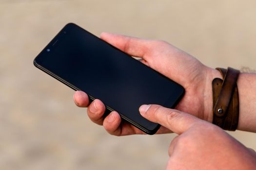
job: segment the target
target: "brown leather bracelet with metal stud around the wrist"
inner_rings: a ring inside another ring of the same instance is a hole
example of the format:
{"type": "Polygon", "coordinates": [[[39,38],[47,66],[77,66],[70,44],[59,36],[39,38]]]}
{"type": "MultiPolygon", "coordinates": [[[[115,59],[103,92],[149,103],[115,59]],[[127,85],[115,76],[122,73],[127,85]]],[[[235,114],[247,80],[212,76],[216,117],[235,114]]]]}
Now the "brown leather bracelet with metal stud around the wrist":
{"type": "Polygon", "coordinates": [[[240,71],[216,68],[223,80],[215,78],[213,85],[213,123],[224,130],[235,131],[239,119],[239,99],[236,85],[240,71]]]}

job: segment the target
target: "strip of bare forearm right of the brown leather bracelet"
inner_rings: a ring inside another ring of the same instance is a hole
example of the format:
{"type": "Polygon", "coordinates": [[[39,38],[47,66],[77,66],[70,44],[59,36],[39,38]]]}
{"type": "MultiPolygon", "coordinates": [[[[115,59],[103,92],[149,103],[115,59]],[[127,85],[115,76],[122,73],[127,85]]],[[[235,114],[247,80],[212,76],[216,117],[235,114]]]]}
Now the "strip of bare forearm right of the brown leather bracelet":
{"type": "Polygon", "coordinates": [[[240,73],[237,80],[239,94],[238,130],[256,132],[256,74],[240,73]]]}

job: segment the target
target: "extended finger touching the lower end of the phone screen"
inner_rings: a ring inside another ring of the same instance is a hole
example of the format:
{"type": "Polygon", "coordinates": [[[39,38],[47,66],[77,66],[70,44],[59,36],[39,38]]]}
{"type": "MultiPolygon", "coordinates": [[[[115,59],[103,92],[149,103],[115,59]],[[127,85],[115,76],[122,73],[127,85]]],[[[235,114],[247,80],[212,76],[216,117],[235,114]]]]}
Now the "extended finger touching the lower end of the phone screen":
{"type": "Polygon", "coordinates": [[[159,123],[179,135],[195,124],[204,123],[190,114],[156,104],[141,105],[139,112],[144,118],[159,123]]]}

